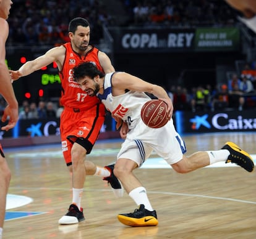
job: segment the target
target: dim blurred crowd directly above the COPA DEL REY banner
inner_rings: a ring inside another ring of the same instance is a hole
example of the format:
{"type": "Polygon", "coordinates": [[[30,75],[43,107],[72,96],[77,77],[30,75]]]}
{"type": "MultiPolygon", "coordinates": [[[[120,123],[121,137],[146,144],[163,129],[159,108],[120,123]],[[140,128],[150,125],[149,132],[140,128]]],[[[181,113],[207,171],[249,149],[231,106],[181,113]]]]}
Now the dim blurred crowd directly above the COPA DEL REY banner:
{"type": "Polygon", "coordinates": [[[135,26],[227,26],[237,13],[222,0],[124,0],[128,25],[135,26]]]}

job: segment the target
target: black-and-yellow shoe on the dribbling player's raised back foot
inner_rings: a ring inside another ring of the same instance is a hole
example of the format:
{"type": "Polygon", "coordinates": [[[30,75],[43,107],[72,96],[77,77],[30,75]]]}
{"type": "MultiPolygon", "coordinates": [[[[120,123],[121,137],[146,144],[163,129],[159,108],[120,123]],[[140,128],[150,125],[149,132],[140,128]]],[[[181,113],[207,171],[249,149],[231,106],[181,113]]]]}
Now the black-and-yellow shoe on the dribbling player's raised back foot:
{"type": "MultiPolygon", "coordinates": [[[[239,160],[240,162],[242,161],[242,168],[244,168],[246,171],[248,172],[252,172],[254,171],[254,161],[252,160],[252,156],[249,155],[249,153],[245,152],[244,150],[242,150],[240,147],[238,147],[236,144],[234,144],[233,142],[226,142],[226,144],[223,146],[224,149],[229,150],[231,148],[231,150],[234,150],[236,153],[238,153],[239,155],[241,155],[239,158],[237,158],[237,156],[233,156],[234,160],[227,160],[226,163],[237,163],[237,160],[239,160]],[[243,158],[247,157],[247,160],[244,161],[243,158]],[[237,159],[237,160],[236,160],[237,159]]],[[[232,152],[231,152],[232,155],[232,152]]]]}

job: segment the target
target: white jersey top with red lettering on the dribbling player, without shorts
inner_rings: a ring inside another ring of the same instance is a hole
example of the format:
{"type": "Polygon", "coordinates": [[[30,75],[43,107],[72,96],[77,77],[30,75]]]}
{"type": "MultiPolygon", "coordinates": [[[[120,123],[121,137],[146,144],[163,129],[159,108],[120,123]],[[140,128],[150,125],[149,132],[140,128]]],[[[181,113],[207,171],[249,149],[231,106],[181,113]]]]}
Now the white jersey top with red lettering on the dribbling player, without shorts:
{"type": "Polygon", "coordinates": [[[143,104],[151,100],[151,98],[144,92],[137,91],[128,91],[125,94],[113,96],[111,86],[113,74],[106,74],[103,86],[104,92],[103,94],[97,94],[97,97],[112,115],[125,121],[129,129],[134,129],[138,120],[140,120],[140,111],[143,104]]]}

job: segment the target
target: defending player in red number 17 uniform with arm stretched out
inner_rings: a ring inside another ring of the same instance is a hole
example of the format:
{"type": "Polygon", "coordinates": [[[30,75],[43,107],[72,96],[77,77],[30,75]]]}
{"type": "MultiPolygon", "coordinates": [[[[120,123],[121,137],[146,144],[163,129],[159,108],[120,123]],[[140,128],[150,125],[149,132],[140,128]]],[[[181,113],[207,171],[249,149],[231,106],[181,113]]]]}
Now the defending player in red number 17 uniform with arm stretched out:
{"type": "Polygon", "coordinates": [[[45,55],[22,65],[17,71],[10,71],[12,79],[27,76],[40,68],[56,62],[61,78],[61,144],[64,159],[72,172],[73,198],[69,211],[59,224],[76,224],[83,221],[83,209],[80,207],[83,185],[86,175],[101,176],[108,180],[116,196],[122,196],[122,186],[113,174],[113,165],[100,168],[85,161],[100,134],[105,120],[105,107],[100,100],[89,97],[73,79],[72,68],[81,62],[94,62],[105,73],[114,71],[111,60],[104,52],[89,45],[90,25],[84,18],[74,18],[69,23],[70,43],[49,49],[45,55]]]}

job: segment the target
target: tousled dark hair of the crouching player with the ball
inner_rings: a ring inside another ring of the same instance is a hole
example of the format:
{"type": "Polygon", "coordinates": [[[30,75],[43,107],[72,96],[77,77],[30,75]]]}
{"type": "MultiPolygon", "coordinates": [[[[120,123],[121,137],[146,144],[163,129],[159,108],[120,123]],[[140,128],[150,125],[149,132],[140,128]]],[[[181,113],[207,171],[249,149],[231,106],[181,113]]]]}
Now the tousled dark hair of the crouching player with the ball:
{"type": "Polygon", "coordinates": [[[95,78],[95,76],[100,76],[100,78],[105,76],[100,70],[98,70],[94,62],[82,62],[74,67],[73,70],[75,81],[82,79],[85,76],[88,76],[91,79],[95,78]]]}

